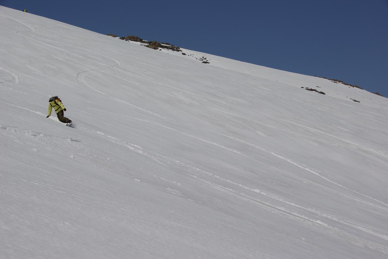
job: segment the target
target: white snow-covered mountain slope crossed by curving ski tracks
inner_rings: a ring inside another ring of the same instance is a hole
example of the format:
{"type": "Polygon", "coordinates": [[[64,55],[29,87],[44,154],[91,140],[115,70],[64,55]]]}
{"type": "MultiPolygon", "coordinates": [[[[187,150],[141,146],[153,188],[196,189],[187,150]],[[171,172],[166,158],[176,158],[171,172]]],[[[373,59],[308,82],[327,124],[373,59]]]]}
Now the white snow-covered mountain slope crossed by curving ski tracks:
{"type": "Polygon", "coordinates": [[[0,258],[388,257],[388,99],[5,7],[0,24],[0,258]]]}

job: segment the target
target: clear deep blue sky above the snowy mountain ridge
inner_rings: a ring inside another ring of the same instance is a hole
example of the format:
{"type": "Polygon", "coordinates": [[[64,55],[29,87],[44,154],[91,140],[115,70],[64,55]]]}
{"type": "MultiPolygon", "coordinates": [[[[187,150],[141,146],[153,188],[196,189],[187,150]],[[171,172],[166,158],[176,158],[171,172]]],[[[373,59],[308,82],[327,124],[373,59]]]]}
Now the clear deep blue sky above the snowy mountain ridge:
{"type": "Polygon", "coordinates": [[[102,34],[136,35],[388,97],[388,0],[0,0],[102,34]]]}

